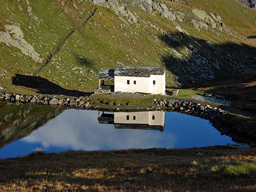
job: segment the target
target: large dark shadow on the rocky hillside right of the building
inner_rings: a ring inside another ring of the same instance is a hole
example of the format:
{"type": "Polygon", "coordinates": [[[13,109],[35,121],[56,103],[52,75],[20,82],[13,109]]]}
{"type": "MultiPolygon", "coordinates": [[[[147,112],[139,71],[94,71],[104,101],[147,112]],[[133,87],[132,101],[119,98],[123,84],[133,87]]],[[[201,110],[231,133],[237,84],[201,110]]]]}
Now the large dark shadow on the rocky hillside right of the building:
{"type": "Polygon", "coordinates": [[[200,87],[198,82],[227,79],[256,69],[256,48],[250,45],[210,44],[180,32],[172,36],[176,41],[169,35],[159,37],[169,47],[168,51],[174,53],[162,55],[162,60],[183,87],[200,87]],[[185,54],[175,53],[174,49],[185,54]]]}

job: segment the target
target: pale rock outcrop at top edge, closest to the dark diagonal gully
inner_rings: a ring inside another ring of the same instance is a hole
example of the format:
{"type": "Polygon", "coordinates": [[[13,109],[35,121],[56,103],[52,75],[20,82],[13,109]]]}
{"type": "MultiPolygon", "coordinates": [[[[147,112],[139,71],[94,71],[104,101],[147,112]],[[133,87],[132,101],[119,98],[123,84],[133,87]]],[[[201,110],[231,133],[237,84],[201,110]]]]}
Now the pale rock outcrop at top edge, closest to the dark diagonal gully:
{"type": "MultiPolygon", "coordinates": [[[[82,0],[84,2],[92,2],[93,4],[96,4],[98,6],[107,7],[109,9],[112,9],[114,12],[116,12],[117,15],[119,15],[120,19],[127,20],[129,23],[137,23],[137,17],[127,9],[127,6],[122,3],[121,1],[117,0],[82,0]]],[[[125,23],[127,23],[125,20],[123,20],[125,23]]]]}

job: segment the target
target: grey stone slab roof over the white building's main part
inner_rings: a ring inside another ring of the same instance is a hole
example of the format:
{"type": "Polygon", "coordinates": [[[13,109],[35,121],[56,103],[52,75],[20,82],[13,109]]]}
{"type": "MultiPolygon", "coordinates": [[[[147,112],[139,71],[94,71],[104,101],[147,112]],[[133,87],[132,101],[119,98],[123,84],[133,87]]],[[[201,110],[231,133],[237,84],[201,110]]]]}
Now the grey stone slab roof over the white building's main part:
{"type": "Polygon", "coordinates": [[[137,67],[116,66],[114,76],[150,77],[150,75],[164,75],[165,67],[137,67]]]}

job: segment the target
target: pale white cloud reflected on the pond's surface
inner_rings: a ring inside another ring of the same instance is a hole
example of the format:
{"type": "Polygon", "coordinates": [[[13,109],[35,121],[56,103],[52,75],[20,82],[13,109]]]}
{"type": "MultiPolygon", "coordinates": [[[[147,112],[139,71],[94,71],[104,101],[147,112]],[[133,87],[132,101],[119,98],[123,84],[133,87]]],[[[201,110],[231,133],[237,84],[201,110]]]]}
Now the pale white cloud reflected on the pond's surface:
{"type": "Polygon", "coordinates": [[[152,130],[115,129],[99,124],[98,111],[70,109],[50,120],[22,140],[73,150],[110,150],[128,148],[174,148],[175,136],[152,130]]]}

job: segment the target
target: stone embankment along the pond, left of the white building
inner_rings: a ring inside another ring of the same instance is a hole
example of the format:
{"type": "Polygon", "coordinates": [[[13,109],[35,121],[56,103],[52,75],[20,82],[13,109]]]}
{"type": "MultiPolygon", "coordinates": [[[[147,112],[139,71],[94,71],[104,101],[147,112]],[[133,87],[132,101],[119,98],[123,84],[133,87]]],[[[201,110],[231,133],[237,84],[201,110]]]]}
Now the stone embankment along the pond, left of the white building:
{"type": "Polygon", "coordinates": [[[21,102],[21,103],[34,103],[34,104],[43,104],[43,105],[61,105],[67,107],[79,107],[79,108],[89,108],[91,107],[89,102],[81,101],[77,99],[61,99],[55,98],[53,96],[31,96],[31,95],[22,95],[22,94],[8,94],[1,93],[0,100],[12,101],[12,102],[21,102]]]}

